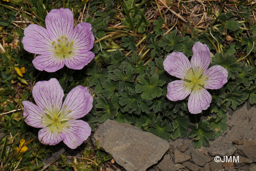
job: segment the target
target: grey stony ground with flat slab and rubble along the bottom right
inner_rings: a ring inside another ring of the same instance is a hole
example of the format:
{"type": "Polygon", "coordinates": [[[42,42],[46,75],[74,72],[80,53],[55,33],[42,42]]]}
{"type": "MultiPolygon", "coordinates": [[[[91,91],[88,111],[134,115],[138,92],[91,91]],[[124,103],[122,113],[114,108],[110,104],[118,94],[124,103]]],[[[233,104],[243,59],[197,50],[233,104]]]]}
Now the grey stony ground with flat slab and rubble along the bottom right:
{"type": "MultiPolygon", "coordinates": [[[[211,141],[210,147],[200,149],[193,147],[191,138],[167,142],[132,125],[111,120],[100,125],[87,141],[98,141],[99,147],[113,156],[115,164],[106,171],[256,171],[256,106],[247,102],[230,111],[227,123],[229,129],[222,136],[211,141]],[[216,156],[220,162],[214,160],[216,156]]],[[[44,161],[45,166],[65,152],[80,157],[79,151],[66,150],[57,149],[44,161]]]]}

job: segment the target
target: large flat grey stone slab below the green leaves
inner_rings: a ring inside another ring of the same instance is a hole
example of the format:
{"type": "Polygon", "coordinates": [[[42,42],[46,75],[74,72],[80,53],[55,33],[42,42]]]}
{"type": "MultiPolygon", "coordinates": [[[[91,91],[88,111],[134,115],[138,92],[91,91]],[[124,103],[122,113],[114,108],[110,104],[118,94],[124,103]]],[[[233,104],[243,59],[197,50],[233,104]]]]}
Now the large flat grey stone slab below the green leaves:
{"type": "Polygon", "coordinates": [[[93,136],[96,141],[127,171],[146,171],[169,149],[169,143],[154,134],[112,120],[99,126],[93,136]]]}

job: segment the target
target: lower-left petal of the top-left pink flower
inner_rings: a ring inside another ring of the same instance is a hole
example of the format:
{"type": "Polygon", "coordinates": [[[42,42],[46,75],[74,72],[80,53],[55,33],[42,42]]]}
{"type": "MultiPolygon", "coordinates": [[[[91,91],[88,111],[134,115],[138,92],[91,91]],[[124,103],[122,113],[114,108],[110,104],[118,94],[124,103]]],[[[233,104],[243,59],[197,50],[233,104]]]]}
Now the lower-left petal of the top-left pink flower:
{"type": "Polygon", "coordinates": [[[54,53],[48,53],[35,57],[32,63],[39,71],[55,72],[63,68],[64,58],[60,58],[54,53]]]}

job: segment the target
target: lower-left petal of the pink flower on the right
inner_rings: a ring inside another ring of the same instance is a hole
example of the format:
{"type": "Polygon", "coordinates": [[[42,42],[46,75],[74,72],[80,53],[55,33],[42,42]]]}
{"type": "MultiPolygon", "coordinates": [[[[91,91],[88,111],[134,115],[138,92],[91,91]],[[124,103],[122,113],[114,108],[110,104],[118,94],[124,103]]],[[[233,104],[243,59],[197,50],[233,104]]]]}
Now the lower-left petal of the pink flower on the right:
{"type": "Polygon", "coordinates": [[[191,88],[187,87],[186,83],[186,81],[182,80],[170,82],[167,86],[166,97],[172,101],[185,99],[191,93],[191,88]]]}

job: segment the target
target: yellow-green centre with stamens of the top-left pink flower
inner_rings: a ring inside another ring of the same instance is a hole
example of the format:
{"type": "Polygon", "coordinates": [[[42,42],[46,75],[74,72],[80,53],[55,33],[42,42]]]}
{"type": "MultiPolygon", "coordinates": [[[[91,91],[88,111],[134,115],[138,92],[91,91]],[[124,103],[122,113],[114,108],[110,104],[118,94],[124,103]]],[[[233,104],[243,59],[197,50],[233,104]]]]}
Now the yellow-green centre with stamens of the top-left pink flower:
{"type": "Polygon", "coordinates": [[[61,36],[60,39],[52,42],[54,53],[61,58],[67,58],[72,54],[72,46],[73,42],[69,42],[68,38],[65,36],[61,36]]]}

